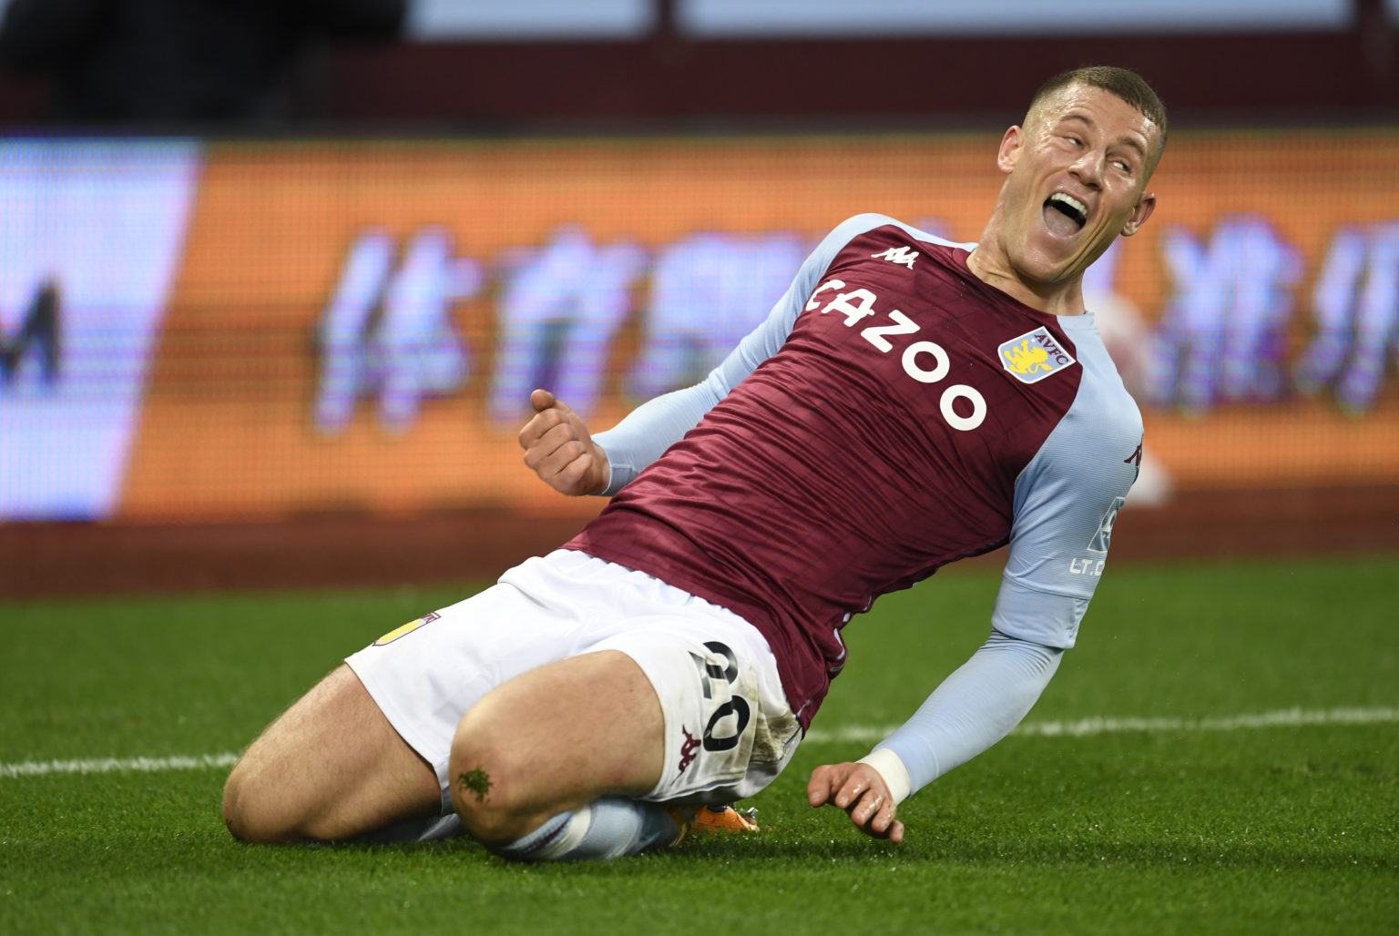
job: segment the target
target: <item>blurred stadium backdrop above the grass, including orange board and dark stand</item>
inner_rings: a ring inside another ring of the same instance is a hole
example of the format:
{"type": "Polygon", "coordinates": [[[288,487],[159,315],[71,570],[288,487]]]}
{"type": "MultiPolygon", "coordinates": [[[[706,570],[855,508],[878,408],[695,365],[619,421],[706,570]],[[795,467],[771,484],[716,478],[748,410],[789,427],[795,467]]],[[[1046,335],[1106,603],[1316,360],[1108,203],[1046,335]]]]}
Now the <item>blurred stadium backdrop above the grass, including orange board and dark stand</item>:
{"type": "Polygon", "coordinates": [[[695,379],[858,211],[974,239],[1000,132],[1087,62],[1172,111],[1093,276],[1154,469],[1115,558],[1399,547],[1399,3],[484,6],[313,49],[273,125],[0,81],[0,596],[548,548],[600,501],[520,466],[530,386],[602,427],[695,379]]]}

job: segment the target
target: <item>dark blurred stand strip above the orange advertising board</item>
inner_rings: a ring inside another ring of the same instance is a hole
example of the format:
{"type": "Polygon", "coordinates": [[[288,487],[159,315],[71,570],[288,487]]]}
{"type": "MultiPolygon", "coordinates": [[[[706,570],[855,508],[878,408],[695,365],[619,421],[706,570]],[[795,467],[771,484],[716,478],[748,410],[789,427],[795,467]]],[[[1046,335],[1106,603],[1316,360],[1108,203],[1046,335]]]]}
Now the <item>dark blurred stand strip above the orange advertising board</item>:
{"type": "Polygon", "coordinates": [[[8,0],[7,127],[983,126],[1126,64],[1182,126],[1389,122],[1393,0],[8,0]]]}

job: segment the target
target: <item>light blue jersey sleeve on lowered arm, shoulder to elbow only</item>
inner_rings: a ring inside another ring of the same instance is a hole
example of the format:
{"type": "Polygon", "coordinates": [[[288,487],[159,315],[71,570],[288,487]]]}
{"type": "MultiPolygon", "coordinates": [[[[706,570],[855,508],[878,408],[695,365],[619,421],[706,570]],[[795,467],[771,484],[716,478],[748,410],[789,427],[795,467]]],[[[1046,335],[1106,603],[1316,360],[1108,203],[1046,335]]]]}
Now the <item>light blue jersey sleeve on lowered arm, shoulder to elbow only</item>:
{"type": "Polygon", "coordinates": [[[1080,393],[1016,480],[1010,555],[992,611],[997,631],[1073,646],[1136,480],[1140,445],[1142,417],[1130,397],[1080,393]]]}

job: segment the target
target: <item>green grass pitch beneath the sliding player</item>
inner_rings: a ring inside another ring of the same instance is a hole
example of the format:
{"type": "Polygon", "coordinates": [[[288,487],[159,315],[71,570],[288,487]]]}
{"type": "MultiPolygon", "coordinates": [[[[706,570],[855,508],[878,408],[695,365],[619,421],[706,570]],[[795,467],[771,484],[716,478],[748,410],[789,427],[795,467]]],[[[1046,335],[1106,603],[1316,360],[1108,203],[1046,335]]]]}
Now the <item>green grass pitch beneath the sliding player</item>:
{"type": "Polygon", "coordinates": [[[1154,721],[1013,735],[905,803],[901,846],[809,809],[814,765],[981,644],[997,578],[950,569],[855,620],[814,736],[750,803],[760,834],[568,866],[245,846],[227,768],[42,767],[238,751],[464,589],[0,603],[0,933],[1399,932],[1399,557],[1116,567],[1027,726],[1154,721]],[[1237,721],[1269,712],[1291,715],[1237,721]]]}

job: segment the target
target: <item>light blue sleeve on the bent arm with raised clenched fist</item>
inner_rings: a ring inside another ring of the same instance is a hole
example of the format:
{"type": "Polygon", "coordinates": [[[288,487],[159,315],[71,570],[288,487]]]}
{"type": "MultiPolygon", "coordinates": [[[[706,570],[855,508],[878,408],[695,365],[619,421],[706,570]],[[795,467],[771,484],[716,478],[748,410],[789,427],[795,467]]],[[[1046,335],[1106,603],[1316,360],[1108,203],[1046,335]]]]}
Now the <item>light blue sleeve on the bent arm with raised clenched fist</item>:
{"type": "MultiPolygon", "coordinates": [[[[616,494],[644,467],[655,462],[686,432],[704,418],[729,390],[736,388],[760,364],[778,353],[807,297],[821,283],[827,267],[851,241],[872,228],[897,224],[883,214],[858,214],[835,227],[802,263],[792,285],[778,299],[768,318],[748,333],[719,365],[700,383],[663,393],[628,413],[613,428],[597,432],[593,441],[607,452],[611,477],[604,495],[616,494]]],[[[904,227],[904,225],[901,225],[904,227]]],[[[911,228],[909,228],[911,229],[911,228]]],[[[926,235],[923,235],[926,236],[926,235]]]]}

